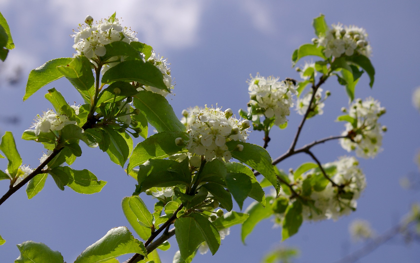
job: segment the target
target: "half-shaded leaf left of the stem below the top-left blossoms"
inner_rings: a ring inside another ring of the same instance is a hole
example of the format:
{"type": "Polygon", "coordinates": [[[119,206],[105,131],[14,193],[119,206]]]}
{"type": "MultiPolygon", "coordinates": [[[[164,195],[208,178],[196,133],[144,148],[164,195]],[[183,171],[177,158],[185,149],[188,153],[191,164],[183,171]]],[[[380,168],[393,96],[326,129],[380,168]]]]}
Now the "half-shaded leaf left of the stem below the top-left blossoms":
{"type": "Polygon", "coordinates": [[[93,77],[92,63],[85,56],[76,56],[67,65],[58,66],[70,83],[79,91],[85,103],[90,103],[95,96],[95,77],[93,77]]]}

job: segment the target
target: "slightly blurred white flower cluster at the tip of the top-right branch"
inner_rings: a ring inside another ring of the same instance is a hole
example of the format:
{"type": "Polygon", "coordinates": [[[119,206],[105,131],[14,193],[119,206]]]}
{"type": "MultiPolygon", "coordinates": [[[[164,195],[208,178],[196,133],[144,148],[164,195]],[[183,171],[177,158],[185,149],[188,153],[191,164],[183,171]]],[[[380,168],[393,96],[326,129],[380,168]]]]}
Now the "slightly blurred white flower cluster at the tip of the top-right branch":
{"type": "Polygon", "coordinates": [[[354,53],[370,57],[372,48],[367,41],[365,29],[356,26],[344,26],[333,24],[332,29],[325,33],[325,36],[314,38],[312,41],[318,46],[325,47],[326,57],[352,56],[354,53]]]}

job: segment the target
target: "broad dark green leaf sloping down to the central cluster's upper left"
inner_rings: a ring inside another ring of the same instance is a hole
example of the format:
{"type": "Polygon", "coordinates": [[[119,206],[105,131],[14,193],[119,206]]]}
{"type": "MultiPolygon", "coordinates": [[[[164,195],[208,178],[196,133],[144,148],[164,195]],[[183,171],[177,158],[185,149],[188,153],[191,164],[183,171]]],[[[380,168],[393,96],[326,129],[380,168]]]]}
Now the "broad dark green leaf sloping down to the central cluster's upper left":
{"type": "Polygon", "coordinates": [[[134,97],[134,106],[141,110],[147,121],[156,128],[157,132],[186,130],[184,124],[178,120],[172,106],[160,94],[142,90],[134,97]]]}

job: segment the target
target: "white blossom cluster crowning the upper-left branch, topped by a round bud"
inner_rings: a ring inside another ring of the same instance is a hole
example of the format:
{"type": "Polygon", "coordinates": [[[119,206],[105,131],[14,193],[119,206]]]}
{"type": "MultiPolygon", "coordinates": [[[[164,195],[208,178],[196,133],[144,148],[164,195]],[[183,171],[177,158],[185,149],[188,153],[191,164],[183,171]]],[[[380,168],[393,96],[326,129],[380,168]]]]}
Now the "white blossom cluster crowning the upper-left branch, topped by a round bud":
{"type": "Polygon", "coordinates": [[[105,45],[115,42],[138,41],[135,32],[127,27],[121,26],[119,20],[115,16],[109,19],[97,21],[93,24],[93,18],[87,16],[84,24],[79,24],[79,31],[75,32],[73,48],[76,50],[74,56],[84,55],[87,58],[98,58],[105,56],[105,45]]]}

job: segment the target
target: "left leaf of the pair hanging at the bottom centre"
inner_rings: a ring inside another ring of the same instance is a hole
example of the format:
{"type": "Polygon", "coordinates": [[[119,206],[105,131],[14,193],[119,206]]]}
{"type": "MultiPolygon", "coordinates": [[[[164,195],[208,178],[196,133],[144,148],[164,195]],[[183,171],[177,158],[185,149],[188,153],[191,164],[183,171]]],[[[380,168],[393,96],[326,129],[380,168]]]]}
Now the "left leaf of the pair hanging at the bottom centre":
{"type": "Polygon", "coordinates": [[[176,229],[175,237],[176,242],[178,242],[179,252],[186,262],[191,262],[191,258],[189,259],[189,257],[194,255],[197,247],[205,241],[195,222],[194,218],[188,216],[178,218],[174,223],[176,229]]]}

